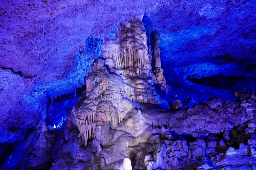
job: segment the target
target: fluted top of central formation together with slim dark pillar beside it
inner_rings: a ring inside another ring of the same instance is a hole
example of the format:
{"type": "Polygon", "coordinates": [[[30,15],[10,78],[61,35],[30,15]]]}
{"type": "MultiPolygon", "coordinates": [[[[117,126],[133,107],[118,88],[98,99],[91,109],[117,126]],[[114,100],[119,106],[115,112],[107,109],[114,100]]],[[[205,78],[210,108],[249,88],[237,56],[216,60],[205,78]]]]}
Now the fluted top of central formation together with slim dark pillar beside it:
{"type": "Polygon", "coordinates": [[[161,68],[158,32],[151,33],[149,45],[150,48],[143,24],[133,19],[116,30],[116,39],[103,41],[102,57],[111,72],[128,77],[151,77],[156,86],[168,92],[161,68]]]}

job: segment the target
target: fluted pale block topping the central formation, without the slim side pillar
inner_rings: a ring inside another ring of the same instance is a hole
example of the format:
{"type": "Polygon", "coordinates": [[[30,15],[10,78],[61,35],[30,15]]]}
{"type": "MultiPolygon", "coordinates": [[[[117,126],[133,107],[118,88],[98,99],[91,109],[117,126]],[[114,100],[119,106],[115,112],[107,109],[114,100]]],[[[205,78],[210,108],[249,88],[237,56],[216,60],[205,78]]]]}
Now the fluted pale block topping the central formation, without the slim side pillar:
{"type": "Polygon", "coordinates": [[[140,77],[150,77],[151,58],[148,55],[147,36],[139,20],[130,20],[116,30],[116,40],[103,42],[102,57],[108,68],[135,68],[140,77]]]}

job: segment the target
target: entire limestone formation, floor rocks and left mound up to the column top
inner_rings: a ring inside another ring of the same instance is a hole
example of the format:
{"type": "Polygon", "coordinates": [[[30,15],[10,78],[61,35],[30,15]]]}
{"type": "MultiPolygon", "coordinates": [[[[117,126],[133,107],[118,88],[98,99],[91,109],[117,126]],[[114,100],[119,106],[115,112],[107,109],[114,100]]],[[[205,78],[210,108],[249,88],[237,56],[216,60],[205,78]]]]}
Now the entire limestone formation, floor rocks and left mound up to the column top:
{"type": "Polygon", "coordinates": [[[41,120],[2,170],[256,169],[255,93],[242,90],[235,101],[209,98],[189,109],[175,100],[169,109],[156,89],[167,91],[159,34],[150,39],[148,48],[138,20],[121,25],[115,39],[103,42],[102,59],[91,65],[64,126],[41,120]]]}

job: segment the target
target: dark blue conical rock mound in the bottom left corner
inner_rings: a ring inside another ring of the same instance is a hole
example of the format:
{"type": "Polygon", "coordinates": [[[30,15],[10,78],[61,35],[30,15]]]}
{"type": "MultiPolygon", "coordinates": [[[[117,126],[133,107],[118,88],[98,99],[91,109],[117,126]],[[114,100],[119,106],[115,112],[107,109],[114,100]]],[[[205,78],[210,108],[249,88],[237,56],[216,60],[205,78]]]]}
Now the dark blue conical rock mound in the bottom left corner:
{"type": "Polygon", "coordinates": [[[55,134],[41,121],[11,153],[2,170],[49,169],[55,134]]]}

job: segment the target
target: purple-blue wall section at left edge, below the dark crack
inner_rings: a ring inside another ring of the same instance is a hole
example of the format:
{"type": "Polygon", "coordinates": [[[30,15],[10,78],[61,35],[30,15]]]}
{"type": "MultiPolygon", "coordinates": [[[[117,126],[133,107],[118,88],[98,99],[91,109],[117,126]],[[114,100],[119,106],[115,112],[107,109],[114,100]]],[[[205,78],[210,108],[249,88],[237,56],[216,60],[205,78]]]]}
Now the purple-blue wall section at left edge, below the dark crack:
{"type": "MultiPolygon", "coordinates": [[[[27,115],[26,107],[21,104],[20,97],[32,90],[34,78],[0,68],[0,82],[0,141],[20,140],[25,135],[24,131],[37,125],[41,116],[27,115]]],[[[38,106],[34,106],[36,107],[38,106]]]]}

